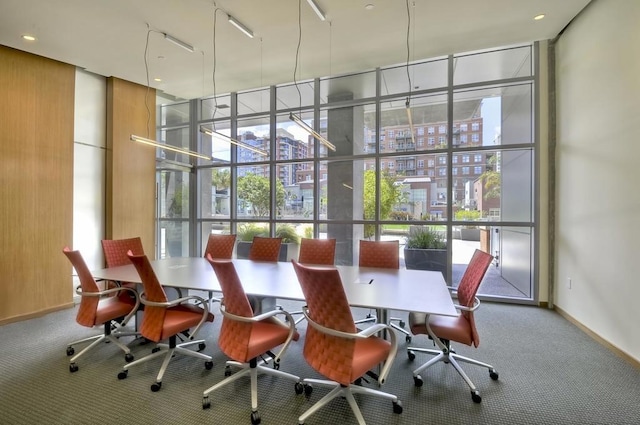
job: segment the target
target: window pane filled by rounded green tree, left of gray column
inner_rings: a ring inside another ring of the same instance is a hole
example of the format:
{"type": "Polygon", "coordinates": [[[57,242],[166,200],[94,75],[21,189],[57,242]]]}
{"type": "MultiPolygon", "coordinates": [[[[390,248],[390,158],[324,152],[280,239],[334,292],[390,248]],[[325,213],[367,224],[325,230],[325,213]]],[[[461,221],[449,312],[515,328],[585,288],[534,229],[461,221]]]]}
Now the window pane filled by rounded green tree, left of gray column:
{"type": "MultiPolygon", "coordinates": [[[[276,199],[284,199],[284,187],[276,181],[276,199]]],[[[269,166],[238,167],[238,217],[269,217],[271,212],[271,183],[269,166]]],[[[278,201],[277,201],[278,202],[278,201]]]]}

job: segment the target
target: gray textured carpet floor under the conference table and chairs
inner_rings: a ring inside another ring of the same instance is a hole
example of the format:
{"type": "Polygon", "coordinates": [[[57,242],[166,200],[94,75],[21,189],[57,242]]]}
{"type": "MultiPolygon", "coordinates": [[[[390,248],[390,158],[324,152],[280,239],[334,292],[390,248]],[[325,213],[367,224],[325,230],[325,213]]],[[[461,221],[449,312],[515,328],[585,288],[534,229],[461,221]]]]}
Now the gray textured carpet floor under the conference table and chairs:
{"type": "MultiPolygon", "coordinates": [[[[283,303],[298,310],[299,303],[283,303]]],[[[355,311],[363,317],[367,311],[355,311]]],[[[132,368],[125,380],[117,374],[124,356],[105,344],[78,361],[70,373],[67,342],[95,333],[75,323],[75,309],[0,327],[0,424],[249,424],[248,379],[213,393],[211,409],[202,409],[202,392],[224,378],[225,357],[216,347],[221,315],[201,336],[214,367],[197,359],[176,357],[153,393],[159,361],[132,368]]],[[[402,316],[394,313],[393,316],[402,316]]],[[[383,390],[403,403],[401,415],[391,403],[372,397],[357,400],[368,424],[628,424],[640,423],[640,370],[593,341],[557,313],[528,306],[483,303],[477,312],[480,347],[456,351],[495,366],[463,366],[482,394],[471,401],[468,387],[449,365],[423,372],[424,385],[413,384],[411,371],[429,356],[407,359],[406,342],[383,390]]],[[[306,326],[299,329],[304,334],[306,326]]],[[[136,358],[153,344],[128,339],[136,358]]],[[[412,344],[429,346],[421,336],[412,344]]],[[[281,370],[319,377],[302,357],[302,340],[282,360],[281,370]]],[[[368,385],[368,384],[365,384],[368,385]]],[[[371,385],[371,384],[369,384],[371,385]]],[[[260,377],[259,410],[263,424],[297,424],[297,417],[328,390],[317,387],[310,399],[296,395],[293,384],[260,377]]],[[[307,425],[355,424],[344,399],[336,399],[307,425]]]]}

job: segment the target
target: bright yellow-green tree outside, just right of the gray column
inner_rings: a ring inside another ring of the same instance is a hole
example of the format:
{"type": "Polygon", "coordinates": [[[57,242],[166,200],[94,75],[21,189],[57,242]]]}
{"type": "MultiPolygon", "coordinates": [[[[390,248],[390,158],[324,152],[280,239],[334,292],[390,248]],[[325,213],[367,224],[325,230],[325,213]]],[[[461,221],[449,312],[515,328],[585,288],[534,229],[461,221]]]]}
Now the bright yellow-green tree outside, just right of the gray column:
{"type": "MultiPolygon", "coordinates": [[[[395,180],[389,173],[380,175],[380,220],[387,220],[393,206],[400,201],[402,190],[394,184],[395,180]]],[[[364,172],[364,219],[373,220],[376,216],[376,172],[366,170],[364,172]]],[[[365,225],[364,236],[370,238],[375,234],[375,227],[365,225]]]]}

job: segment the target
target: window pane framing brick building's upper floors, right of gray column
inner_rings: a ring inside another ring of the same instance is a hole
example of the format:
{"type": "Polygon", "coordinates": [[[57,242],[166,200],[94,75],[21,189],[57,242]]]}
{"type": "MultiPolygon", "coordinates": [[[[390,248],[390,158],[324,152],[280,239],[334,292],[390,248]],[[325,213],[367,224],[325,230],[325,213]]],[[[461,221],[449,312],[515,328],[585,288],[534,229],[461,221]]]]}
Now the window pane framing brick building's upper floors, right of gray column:
{"type": "MultiPolygon", "coordinates": [[[[402,98],[381,104],[380,136],[378,137],[380,152],[412,152],[446,148],[448,143],[446,95],[411,98],[409,110],[406,107],[406,100],[402,98]],[[409,125],[409,114],[411,114],[413,130],[409,125]]],[[[375,118],[375,113],[371,115],[375,118]]],[[[371,118],[367,117],[366,122],[369,128],[371,118]]],[[[418,171],[414,168],[407,175],[421,175],[418,171]]]]}

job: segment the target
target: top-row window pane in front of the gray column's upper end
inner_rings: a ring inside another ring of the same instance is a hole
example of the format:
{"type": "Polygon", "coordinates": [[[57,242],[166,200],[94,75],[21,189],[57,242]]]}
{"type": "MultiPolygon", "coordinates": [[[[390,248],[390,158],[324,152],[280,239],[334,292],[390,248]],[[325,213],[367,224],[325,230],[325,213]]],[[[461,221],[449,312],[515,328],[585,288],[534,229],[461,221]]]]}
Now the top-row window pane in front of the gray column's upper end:
{"type": "Polygon", "coordinates": [[[375,95],[375,71],[320,80],[321,105],[365,99],[375,95]]]}

